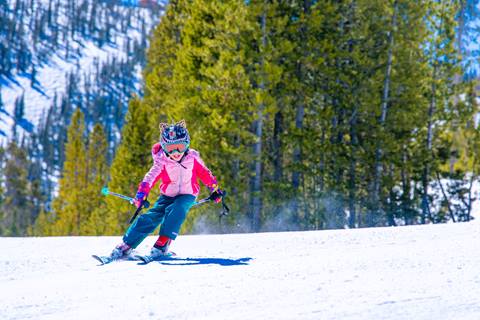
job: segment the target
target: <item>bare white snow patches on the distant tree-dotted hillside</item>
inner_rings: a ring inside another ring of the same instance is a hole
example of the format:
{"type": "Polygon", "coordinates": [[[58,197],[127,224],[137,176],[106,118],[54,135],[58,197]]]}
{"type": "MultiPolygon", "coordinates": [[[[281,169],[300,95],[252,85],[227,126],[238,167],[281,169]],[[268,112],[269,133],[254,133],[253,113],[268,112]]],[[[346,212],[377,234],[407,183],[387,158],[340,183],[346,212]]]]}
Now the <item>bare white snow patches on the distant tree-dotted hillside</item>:
{"type": "MultiPolygon", "coordinates": [[[[108,1],[91,1],[92,5],[106,6],[108,1]]],[[[111,43],[104,44],[101,47],[90,38],[81,38],[77,36],[75,40],[66,39],[60,49],[52,52],[48,56],[48,60],[39,61],[35,56],[34,61],[36,63],[36,84],[31,86],[30,74],[14,74],[13,78],[7,78],[0,74],[0,94],[4,103],[4,109],[0,112],[0,133],[10,135],[11,127],[14,123],[13,113],[15,107],[15,101],[20,96],[25,97],[25,119],[36,127],[40,120],[40,117],[47,109],[53,104],[55,94],[61,95],[66,90],[67,76],[70,72],[81,70],[82,72],[88,72],[95,68],[95,62],[102,64],[113,58],[122,60],[126,58],[126,52],[124,51],[127,41],[133,43],[134,40],[141,40],[141,19],[146,21],[147,30],[151,30],[159,20],[159,14],[151,9],[143,8],[138,1],[117,1],[116,4],[119,12],[123,15],[127,13],[132,14],[132,25],[129,27],[127,33],[123,33],[120,30],[120,22],[118,21],[115,27],[111,28],[111,43]],[[124,6],[129,4],[129,6],[124,6]],[[132,7],[138,8],[132,9],[132,7]],[[68,42],[68,45],[67,45],[68,42]],[[72,57],[66,59],[65,52],[68,48],[69,52],[72,52],[72,57]]],[[[145,1],[143,1],[145,2],[145,1]]],[[[163,3],[160,1],[155,1],[163,3]]],[[[9,9],[15,6],[15,0],[8,0],[7,5],[9,9]]],[[[33,11],[30,15],[24,18],[24,27],[27,30],[27,39],[31,40],[32,31],[30,25],[32,19],[35,18],[35,14],[42,10],[46,10],[49,1],[33,1],[33,11]]],[[[71,17],[67,16],[67,7],[70,5],[79,6],[81,3],[63,2],[59,12],[59,21],[61,22],[59,28],[65,28],[71,17]]],[[[115,3],[115,1],[110,1],[115,3]]],[[[31,44],[33,45],[33,44],[31,44]]],[[[35,51],[33,51],[35,52],[35,51]]],[[[137,90],[141,86],[141,69],[137,68],[137,90]]],[[[0,134],[0,142],[4,140],[4,137],[0,134]]]]}

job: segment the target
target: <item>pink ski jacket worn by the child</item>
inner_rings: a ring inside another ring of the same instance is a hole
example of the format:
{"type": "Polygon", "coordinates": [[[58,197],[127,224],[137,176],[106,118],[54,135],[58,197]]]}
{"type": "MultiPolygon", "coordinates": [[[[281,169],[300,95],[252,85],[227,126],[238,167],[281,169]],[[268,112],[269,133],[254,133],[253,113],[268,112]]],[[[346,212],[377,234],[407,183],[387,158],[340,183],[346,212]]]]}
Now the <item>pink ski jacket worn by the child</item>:
{"type": "Polygon", "coordinates": [[[158,180],[160,192],[168,197],[179,194],[198,196],[200,185],[198,179],[209,189],[215,188],[217,179],[205,166],[198,151],[190,149],[181,162],[170,159],[157,145],[152,148],[153,166],[143,178],[150,191],[158,180]],[[159,150],[160,149],[160,150],[159,150]]]}

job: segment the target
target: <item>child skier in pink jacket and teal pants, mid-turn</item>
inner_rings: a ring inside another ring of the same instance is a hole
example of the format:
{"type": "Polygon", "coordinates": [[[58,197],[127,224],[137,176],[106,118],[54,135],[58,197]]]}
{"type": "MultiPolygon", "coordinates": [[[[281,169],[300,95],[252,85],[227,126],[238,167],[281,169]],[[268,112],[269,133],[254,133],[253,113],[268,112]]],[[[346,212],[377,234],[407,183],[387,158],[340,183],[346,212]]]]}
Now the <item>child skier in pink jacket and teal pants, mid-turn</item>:
{"type": "Polygon", "coordinates": [[[123,242],[115,247],[111,258],[130,255],[158,225],[160,235],[150,251],[152,258],[168,254],[170,243],[175,240],[188,210],[195,203],[200,191],[197,178],[210,189],[210,199],[220,202],[223,192],[217,179],[205,166],[197,151],[190,149],[190,136],[182,120],[176,124],[160,124],[160,143],[152,147],[153,166],[138,187],[135,205],[140,207],[148,193],[160,179],[160,197],[153,207],[139,216],[123,236],[123,242]]]}

